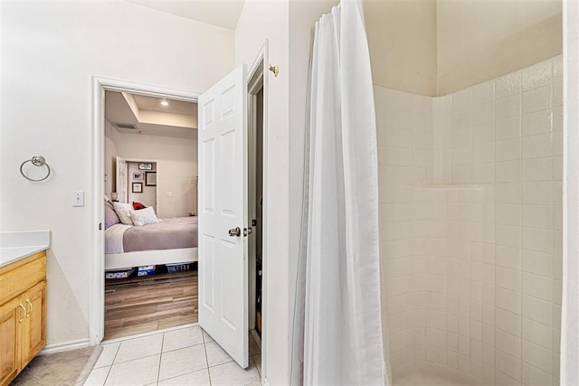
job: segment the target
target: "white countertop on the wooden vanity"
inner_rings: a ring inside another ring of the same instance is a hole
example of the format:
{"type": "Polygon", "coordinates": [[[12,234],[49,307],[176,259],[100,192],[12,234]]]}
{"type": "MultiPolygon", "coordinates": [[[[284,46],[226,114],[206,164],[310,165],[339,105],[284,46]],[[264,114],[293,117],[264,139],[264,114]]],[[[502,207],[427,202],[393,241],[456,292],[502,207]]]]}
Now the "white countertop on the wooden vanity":
{"type": "Polygon", "coordinates": [[[48,249],[50,238],[50,231],[0,232],[0,267],[48,249]]]}

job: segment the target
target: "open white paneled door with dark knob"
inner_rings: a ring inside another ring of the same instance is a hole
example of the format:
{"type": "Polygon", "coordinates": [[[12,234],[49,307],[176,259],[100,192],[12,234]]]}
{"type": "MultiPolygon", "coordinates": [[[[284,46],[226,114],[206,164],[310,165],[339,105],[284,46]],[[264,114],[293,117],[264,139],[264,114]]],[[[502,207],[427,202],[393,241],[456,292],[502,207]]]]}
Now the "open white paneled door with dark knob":
{"type": "Polygon", "coordinates": [[[242,368],[248,354],[247,81],[239,66],[198,101],[199,325],[242,368]]]}

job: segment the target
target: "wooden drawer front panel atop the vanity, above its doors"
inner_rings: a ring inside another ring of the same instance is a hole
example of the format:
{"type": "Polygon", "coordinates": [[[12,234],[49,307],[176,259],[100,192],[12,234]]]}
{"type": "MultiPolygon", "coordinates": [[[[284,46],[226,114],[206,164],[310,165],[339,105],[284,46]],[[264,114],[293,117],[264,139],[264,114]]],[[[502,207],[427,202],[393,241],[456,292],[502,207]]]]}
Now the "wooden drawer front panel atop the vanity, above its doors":
{"type": "Polygon", "coordinates": [[[43,281],[44,278],[46,278],[46,254],[44,252],[19,267],[5,270],[0,274],[0,305],[43,281]]]}

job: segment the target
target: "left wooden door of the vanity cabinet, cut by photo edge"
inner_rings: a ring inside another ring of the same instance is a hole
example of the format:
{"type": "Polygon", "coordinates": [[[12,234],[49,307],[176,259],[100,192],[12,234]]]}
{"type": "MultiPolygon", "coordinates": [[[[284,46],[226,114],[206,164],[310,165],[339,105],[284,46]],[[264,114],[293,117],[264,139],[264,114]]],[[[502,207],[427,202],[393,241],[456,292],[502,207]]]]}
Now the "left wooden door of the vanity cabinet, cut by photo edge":
{"type": "Polygon", "coordinates": [[[25,313],[20,297],[0,306],[0,385],[7,384],[20,371],[19,343],[25,313]]]}

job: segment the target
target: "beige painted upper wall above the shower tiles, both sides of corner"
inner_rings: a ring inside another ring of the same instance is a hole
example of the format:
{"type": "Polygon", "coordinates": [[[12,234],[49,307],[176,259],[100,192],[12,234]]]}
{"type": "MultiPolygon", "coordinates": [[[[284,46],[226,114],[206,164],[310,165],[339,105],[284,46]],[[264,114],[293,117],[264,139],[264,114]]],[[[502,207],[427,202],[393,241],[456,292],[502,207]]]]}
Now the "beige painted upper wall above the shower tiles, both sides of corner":
{"type": "Polygon", "coordinates": [[[375,85],[446,95],[559,55],[561,0],[364,0],[375,85]]]}

